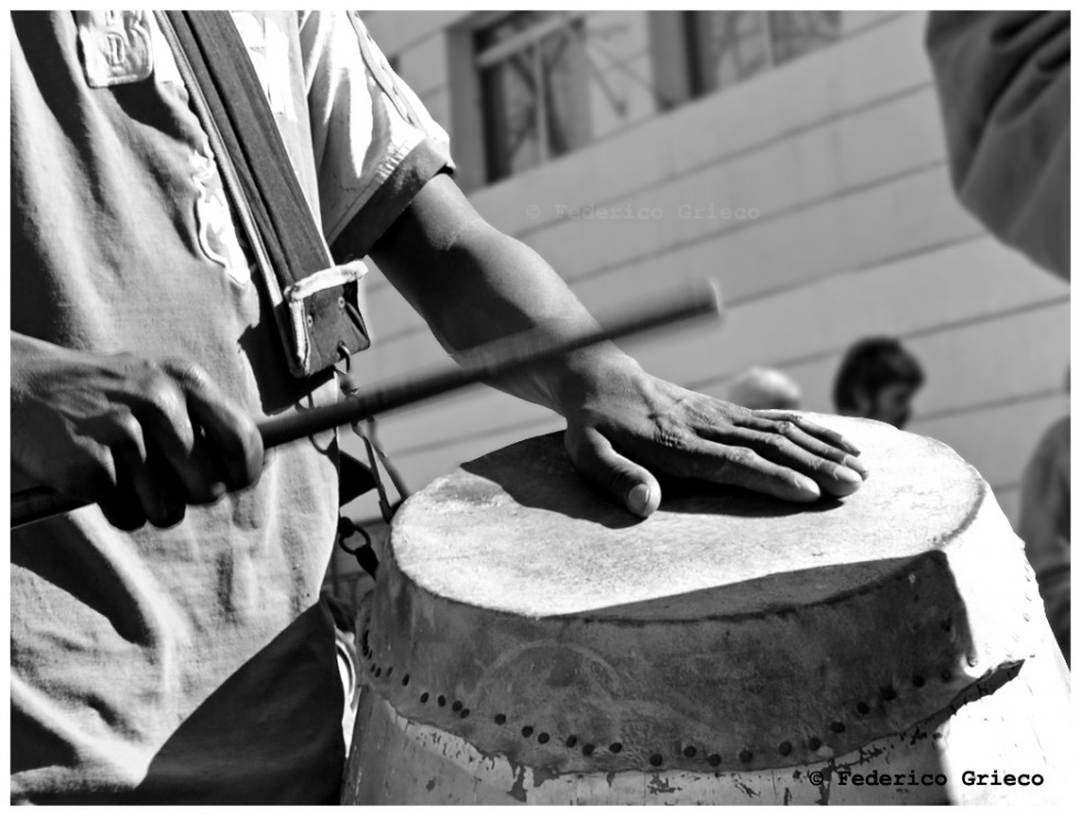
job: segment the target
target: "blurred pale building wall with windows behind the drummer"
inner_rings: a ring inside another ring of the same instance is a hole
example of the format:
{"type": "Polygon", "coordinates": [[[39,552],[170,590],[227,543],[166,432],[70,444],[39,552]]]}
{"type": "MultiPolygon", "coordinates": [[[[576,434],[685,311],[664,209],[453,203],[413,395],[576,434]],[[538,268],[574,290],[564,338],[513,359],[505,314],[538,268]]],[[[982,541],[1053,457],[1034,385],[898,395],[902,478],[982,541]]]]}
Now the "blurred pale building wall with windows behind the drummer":
{"type": "MultiPolygon", "coordinates": [[[[1016,522],[1021,471],[1068,411],[1069,287],[952,194],[920,12],[363,15],[448,131],[458,183],[598,313],[715,278],[709,329],[624,344],[724,397],[767,365],[833,411],[844,351],[899,337],[927,384],[907,430],[972,462],[1016,522]]],[[[373,269],[368,383],[445,356],[373,269]]],[[[491,389],[392,415],[410,490],[561,420],[491,389]]],[[[345,449],[363,458],[353,438],[345,449]]],[[[377,515],[370,498],[349,508],[377,515]]],[[[330,578],[355,581],[347,557],[330,578]]]]}

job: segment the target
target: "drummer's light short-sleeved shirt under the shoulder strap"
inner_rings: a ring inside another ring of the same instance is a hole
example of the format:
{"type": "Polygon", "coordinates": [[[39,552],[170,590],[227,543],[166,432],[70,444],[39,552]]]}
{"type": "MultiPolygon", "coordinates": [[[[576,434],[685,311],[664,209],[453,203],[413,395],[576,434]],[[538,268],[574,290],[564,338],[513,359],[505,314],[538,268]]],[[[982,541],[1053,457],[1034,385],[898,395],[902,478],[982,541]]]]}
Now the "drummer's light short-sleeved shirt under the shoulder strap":
{"type": "MultiPolygon", "coordinates": [[[[234,21],[328,243],[370,245],[450,165],[446,133],[355,15],[234,21]]],[[[289,374],[153,15],[13,12],[11,46],[12,331],[192,359],[256,419],[335,400],[289,374]]],[[[277,449],[165,530],[87,507],[12,533],[14,802],[335,799],[336,457],[334,433],[277,449]]]]}

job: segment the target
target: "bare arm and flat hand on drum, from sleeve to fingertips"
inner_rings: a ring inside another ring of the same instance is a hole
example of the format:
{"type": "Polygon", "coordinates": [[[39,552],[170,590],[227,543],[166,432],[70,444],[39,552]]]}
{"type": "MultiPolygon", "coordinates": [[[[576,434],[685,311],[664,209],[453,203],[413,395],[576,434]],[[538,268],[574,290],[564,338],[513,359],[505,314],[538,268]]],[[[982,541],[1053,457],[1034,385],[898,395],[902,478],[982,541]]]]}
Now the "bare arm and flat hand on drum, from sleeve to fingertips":
{"type": "MultiPolygon", "coordinates": [[[[555,270],[481,218],[445,174],[424,186],[372,255],[451,352],[524,331],[558,340],[597,326],[555,270]]],[[[656,379],[612,344],[495,385],[566,417],[577,468],[642,516],[661,502],[655,474],[792,502],[846,495],[863,482],[859,452],[839,434],[656,379]]]]}

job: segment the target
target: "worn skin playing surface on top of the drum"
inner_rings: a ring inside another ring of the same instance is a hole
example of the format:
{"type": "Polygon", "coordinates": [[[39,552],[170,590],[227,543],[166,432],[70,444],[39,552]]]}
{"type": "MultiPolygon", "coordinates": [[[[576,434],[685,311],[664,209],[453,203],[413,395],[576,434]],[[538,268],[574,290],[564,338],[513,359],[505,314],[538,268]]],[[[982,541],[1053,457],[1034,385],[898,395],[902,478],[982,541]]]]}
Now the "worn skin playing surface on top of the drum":
{"type": "Polygon", "coordinates": [[[640,519],[587,484],[552,434],[469,462],[415,496],[395,525],[394,558],[426,590],[470,605],[686,620],[856,590],[972,522],[986,485],[952,450],[880,422],[833,422],[871,469],[839,501],[667,485],[657,512],[640,519]],[[813,579],[791,575],[801,571],[813,579]]]}

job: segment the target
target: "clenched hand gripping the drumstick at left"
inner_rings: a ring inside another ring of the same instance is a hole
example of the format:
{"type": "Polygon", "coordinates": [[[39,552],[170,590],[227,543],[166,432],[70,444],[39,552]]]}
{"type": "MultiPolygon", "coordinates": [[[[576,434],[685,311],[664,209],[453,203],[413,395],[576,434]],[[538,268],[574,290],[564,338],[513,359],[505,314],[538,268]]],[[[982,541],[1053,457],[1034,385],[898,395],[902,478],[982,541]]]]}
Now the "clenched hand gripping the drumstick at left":
{"type": "Polygon", "coordinates": [[[194,364],[14,333],[11,357],[12,463],[117,527],[169,527],[259,477],[258,428],[194,364]]]}

